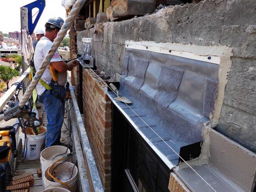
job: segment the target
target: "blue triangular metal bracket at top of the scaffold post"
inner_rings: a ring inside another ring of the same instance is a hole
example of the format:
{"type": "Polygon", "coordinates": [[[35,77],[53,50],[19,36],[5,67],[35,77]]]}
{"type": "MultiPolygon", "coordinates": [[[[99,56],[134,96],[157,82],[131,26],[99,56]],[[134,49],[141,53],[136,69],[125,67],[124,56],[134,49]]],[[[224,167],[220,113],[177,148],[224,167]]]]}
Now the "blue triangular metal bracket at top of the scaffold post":
{"type": "Polygon", "coordinates": [[[36,0],[32,3],[29,3],[23,7],[26,7],[28,9],[28,29],[29,29],[29,34],[32,35],[34,32],[35,26],[38,23],[39,18],[41,17],[44,7],[45,7],[45,0],[36,0]],[[38,8],[38,15],[36,16],[34,23],[32,22],[32,9],[38,8]]]}

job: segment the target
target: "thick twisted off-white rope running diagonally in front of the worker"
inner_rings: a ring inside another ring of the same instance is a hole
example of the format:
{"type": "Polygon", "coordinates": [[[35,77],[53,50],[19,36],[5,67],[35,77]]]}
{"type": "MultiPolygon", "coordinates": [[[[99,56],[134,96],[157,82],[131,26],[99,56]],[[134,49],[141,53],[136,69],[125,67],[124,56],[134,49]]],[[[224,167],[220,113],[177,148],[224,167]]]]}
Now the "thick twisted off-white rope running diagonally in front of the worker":
{"type": "MultiPolygon", "coordinates": [[[[38,84],[39,80],[41,79],[41,76],[43,75],[45,69],[49,65],[52,56],[60,46],[62,40],[64,39],[65,35],[67,34],[68,29],[70,29],[72,23],[74,22],[76,16],[79,14],[81,8],[83,7],[85,3],[85,0],[76,0],[76,3],[73,5],[68,17],[66,18],[64,24],[61,27],[61,30],[58,32],[57,37],[55,38],[53,45],[51,49],[49,50],[47,56],[44,58],[43,63],[39,67],[38,71],[35,73],[34,79],[31,81],[29,84],[28,89],[24,93],[20,104],[19,108],[23,108],[24,105],[26,104],[26,101],[29,99],[29,96],[32,94],[33,90],[35,89],[36,85],[38,84]]],[[[0,116],[0,121],[4,119],[4,116],[0,116]]]]}

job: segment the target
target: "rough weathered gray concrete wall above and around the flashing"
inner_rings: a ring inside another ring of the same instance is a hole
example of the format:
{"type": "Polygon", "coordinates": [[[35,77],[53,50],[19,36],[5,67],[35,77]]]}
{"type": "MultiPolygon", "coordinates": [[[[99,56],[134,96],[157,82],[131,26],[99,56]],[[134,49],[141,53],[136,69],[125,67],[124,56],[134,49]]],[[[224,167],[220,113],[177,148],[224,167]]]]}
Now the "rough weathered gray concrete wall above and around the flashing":
{"type": "Polygon", "coordinates": [[[77,32],[78,51],[81,38],[93,38],[97,67],[115,77],[122,73],[125,40],[232,47],[232,67],[217,130],[256,152],[255,14],[255,0],[204,0],[169,7],[77,32]]]}

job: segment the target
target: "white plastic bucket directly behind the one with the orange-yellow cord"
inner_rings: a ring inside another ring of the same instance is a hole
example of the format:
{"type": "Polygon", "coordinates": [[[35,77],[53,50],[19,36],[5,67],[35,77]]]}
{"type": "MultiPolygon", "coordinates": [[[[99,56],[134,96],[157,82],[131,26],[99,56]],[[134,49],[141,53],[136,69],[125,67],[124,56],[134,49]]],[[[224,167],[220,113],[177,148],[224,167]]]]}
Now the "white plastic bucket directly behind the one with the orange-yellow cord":
{"type": "MultiPolygon", "coordinates": [[[[49,167],[56,160],[58,160],[61,157],[64,157],[68,153],[70,153],[70,150],[65,146],[55,145],[55,146],[45,148],[41,152],[41,157],[40,157],[42,178],[44,178],[44,171],[45,169],[47,169],[47,167],[49,167]]],[[[44,180],[43,180],[43,184],[44,184],[44,180]]]]}

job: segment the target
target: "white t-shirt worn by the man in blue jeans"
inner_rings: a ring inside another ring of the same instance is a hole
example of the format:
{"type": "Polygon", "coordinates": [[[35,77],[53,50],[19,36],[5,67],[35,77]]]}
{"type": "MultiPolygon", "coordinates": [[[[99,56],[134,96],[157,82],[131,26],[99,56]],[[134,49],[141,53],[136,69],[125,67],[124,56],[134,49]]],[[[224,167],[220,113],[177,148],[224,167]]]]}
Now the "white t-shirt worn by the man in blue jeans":
{"type": "MultiPolygon", "coordinates": [[[[34,64],[35,64],[35,70],[38,70],[41,66],[42,62],[44,61],[45,56],[47,55],[49,49],[52,47],[52,41],[50,41],[47,37],[42,37],[40,41],[38,41],[38,44],[35,47],[35,53],[34,53],[34,64]]],[[[51,62],[54,61],[62,61],[58,50],[55,52],[55,54],[52,56],[51,62]]],[[[43,79],[44,82],[49,84],[52,80],[52,76],[49,70],[49,65],[47,66],[46,70],[44,71],[41,79],[43,79]]],[[[67,72],[60,73],[58,72],[58,84],[59,85],[65,85],[67,83],[67,72]]],[[[44,91],[46,90],[44,86],[39,82],[36,86],[36,90],[38,95],[42,95],[44,91]]]]}

